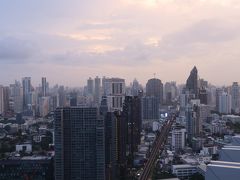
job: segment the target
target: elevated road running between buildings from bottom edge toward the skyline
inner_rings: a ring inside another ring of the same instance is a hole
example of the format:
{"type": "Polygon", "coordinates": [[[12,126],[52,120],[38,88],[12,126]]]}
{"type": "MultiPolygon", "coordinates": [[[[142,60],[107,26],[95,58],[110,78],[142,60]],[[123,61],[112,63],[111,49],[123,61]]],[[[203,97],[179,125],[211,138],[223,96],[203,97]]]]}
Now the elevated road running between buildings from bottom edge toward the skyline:
{"type": "Polygon", "coordinates": [[[162,153],[163,147],[165,145],[165,142],[167,140],[168,134],[171,130],[174,120],[175,115],[170,117],[170,119],[164,123],[161,130],[157,132],[157,136],[154,141],[150,157],[144,166],[143,172],[140,175],[139,180],[148,180],[150,178],[149,176],[151,174],[151,171],[155,165],[157,157],[162,153]]]}

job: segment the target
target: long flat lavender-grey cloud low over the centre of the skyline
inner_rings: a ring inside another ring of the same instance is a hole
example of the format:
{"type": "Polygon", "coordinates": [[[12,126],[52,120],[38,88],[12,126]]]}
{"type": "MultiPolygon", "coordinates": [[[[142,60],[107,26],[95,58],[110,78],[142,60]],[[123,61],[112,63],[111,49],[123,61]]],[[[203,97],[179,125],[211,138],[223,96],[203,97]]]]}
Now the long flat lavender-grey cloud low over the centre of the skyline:
{"type": "Polygon", "coordinates": [[[93,51],[94,48],[92,48],[91,52],[68,51],[63,54],[57,54],[53,57],[53,62],[70,66],[101,67],[106,64],[116,66],[141,66],[149,63],[149,49],[140,42],[132,43],[125,48],[115,48],[104,45],[98,48],[100,49],[96,49],[96,51],[93,51]]]}

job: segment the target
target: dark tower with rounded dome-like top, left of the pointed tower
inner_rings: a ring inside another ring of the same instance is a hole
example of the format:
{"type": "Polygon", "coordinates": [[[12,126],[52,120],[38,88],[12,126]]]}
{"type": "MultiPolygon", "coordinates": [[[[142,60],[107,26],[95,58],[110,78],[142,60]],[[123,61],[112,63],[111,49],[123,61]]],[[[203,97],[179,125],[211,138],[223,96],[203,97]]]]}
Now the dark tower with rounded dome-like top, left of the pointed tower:
{"type": "Polygon", "coordinates": [[[159,99],[160,104],[163,103],[163,84],[160,79],[149,79],[146,85],[146,96],[153,96],[159,99]]]}

